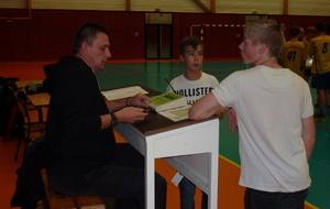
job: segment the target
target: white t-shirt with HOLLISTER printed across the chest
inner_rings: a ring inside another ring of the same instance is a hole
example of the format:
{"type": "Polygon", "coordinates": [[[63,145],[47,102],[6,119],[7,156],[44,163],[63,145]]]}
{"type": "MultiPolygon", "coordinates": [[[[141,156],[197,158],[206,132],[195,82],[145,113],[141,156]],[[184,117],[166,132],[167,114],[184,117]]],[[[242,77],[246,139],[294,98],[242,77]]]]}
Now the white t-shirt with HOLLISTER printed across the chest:
{"type": "Polygon", "coordinates": [[[210,92],[213,87],[219,85],[219,81],[215,76],[202,73],[198,80],[187,80],[183,74],[178,77],[175,77],[169,84],[175,91],[167,86],[167,92],[170,91],[184,96],[187,98],[187,103],[193,105],[202,96],[210,92]]]}

